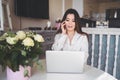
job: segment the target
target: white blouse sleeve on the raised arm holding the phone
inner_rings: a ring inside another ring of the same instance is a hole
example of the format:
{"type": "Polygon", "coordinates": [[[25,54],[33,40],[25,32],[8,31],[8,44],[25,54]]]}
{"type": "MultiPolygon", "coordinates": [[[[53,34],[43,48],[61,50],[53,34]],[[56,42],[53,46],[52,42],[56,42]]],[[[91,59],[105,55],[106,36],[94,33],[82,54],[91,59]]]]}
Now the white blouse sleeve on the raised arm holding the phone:
{"type": "Polygon", "coordinates": [[[54,38],[54,43],[52,45],[52,50],[62,50],[67,39],[67,35],[65,34],[57,34],[54,38]]]}

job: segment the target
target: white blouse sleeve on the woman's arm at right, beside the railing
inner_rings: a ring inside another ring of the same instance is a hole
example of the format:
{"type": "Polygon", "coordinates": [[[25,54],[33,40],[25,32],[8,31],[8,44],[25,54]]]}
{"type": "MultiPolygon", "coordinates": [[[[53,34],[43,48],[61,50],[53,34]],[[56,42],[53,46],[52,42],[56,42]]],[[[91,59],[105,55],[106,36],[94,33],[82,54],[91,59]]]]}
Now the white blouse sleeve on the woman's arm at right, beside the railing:
{"type": "Polygon", "coordinates": [[[88,38],[83,36],[81,51],[85,52],[85,63],[87,62],[88,54],[88,38]]]}

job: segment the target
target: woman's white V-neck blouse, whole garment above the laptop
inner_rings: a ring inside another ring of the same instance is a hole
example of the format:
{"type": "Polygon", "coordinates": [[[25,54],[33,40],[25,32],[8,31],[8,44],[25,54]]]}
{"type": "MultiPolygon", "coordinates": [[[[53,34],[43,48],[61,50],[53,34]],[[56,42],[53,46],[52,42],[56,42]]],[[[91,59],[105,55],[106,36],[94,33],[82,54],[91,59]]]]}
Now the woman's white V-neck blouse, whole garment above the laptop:
{"type": "Polygon", "coordinates": [[[70,40],[65,34],[56,34],[54,43],[52,45],[52,50],[63,50],[63,51],[84,51],[85,52],[85,61],[88,58],[88,39],[86,35],[79,34],[75,32],[73,39],[70,43],[70,40]]]}

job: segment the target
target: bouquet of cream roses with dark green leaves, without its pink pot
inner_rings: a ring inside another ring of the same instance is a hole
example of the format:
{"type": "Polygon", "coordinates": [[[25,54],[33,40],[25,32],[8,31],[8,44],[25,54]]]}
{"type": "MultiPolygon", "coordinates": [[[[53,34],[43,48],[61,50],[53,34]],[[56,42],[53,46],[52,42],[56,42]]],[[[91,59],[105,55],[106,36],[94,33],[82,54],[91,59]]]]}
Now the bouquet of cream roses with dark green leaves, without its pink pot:
{"type": "MultiPolygon", "coordinates": [[[[0,65],[5,70],[10,68],[13,72],[20,67],[32,67],[42,54],[41,43],[44,42],[40,34],[34,32],[5,32],[0,36],[0,65]]],[[[28,76],[28,70],[24,71],[28,76]]],[[[9,79],[10,80],[10,79],[9,79]]],[[[16,79],[18,80],[18,79],[16,79]]]]}

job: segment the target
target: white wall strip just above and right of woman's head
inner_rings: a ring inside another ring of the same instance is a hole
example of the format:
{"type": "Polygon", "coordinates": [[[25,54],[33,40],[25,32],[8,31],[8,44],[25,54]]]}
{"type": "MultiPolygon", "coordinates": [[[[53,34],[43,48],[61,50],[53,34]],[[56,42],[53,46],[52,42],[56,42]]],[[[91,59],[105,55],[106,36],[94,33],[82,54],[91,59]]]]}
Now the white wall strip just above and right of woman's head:
{"type": "Polygon", "coordinates": [[[83,16],[83,0],[73,0],[73,8],[78,11],[80,17],[83,16]]]}

